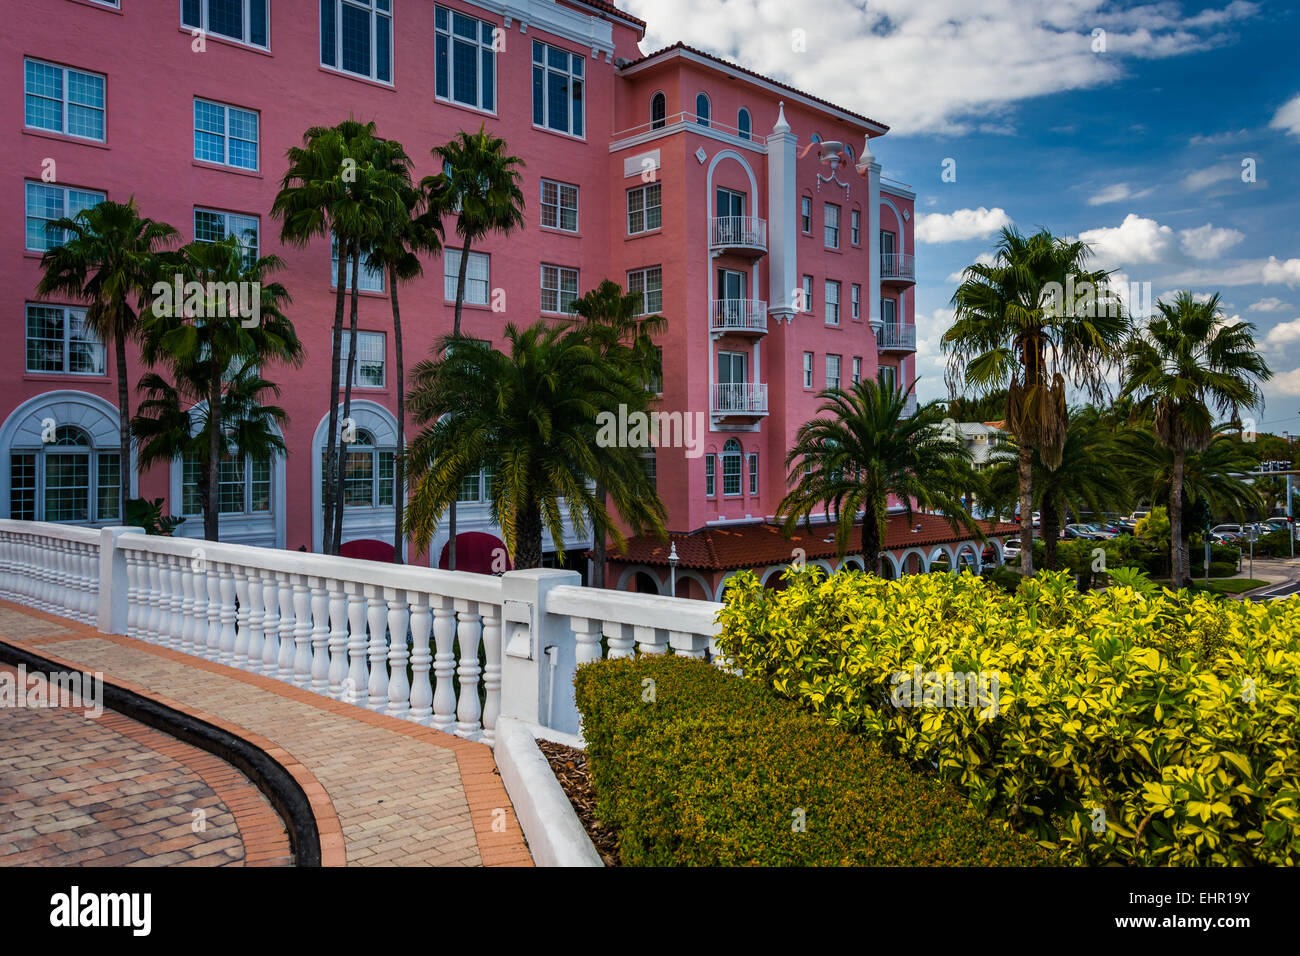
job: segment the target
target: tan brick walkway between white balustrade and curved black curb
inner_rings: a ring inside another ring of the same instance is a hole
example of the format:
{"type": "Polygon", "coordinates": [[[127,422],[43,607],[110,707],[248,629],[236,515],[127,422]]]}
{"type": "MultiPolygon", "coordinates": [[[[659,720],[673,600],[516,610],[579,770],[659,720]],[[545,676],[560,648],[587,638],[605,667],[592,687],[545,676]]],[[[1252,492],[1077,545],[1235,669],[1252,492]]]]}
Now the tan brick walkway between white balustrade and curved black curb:
{"type": "Polygon", "coordinates": [[[326,866],[532,865],[485,744],[5,601],[0,641],[263,748],[307,793],[326,866]]]}

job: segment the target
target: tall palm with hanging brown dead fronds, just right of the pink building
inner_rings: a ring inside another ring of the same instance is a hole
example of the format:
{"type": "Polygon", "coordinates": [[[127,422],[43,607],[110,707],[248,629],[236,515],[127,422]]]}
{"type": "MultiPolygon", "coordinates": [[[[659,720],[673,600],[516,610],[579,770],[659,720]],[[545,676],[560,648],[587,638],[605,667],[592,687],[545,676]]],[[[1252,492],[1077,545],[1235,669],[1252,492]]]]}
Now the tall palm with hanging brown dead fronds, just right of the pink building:
{"type": "Polygon", "coordinates": [[[949,388],[1006,388],[1006,427],[1018,446],[1020,571],[1034,574],[1034,454],[1048,468],[1061,463],[1069,380],[1096,401],[1127,329],[1106,272],[1086,272],[1087,243],[1046,230],[1024,237],[1002,229],[992,264],[966,267],[953,293],[952,328],[944,333],[949,388]],[[1080,302],[1070,289],[1089,290],[1080,302]]]}

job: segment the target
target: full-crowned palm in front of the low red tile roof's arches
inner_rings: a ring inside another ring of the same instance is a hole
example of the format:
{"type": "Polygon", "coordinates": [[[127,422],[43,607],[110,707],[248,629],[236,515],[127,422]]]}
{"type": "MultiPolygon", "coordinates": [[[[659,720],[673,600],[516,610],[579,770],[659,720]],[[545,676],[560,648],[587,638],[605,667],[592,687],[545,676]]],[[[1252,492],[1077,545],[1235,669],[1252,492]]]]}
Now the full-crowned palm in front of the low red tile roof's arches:
{"type": "Polygon", "coordinates": [[[853,523],[862,512],[862,559],[881,572],[888,527],[885,509],[897,497],[909,520],[914,507],[940,510],[956,531],[965,525],[983,537],[962,505],[970,485],[971,454],[941,428],[944,408],[930,402],[906,416],[907,390],[887,389],[864,378],[849,389],[833,388],[818,397],[818,418],[800,425],[785,457],[790,490],[777,511],[785,515],[785,535],[812,512],[836,520],[840,554],[849,549],[853,523]]]}

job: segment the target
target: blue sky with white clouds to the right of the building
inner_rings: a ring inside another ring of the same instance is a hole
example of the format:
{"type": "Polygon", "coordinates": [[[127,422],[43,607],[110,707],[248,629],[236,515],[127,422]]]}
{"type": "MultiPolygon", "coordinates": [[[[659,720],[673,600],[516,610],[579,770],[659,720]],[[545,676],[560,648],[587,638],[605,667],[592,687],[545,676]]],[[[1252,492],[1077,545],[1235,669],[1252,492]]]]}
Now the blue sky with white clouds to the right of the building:
{"type": "Polygon", "coordinates": [[[1274,372],[1257,427],[1300,434],[1300,3],[619,5],[644,52],[684,40],[890,127],[871,148],[916,193],[922,401],[948,395],[961,269],[1046,228],[1150,299],[1219,293],[1274,372]]]}

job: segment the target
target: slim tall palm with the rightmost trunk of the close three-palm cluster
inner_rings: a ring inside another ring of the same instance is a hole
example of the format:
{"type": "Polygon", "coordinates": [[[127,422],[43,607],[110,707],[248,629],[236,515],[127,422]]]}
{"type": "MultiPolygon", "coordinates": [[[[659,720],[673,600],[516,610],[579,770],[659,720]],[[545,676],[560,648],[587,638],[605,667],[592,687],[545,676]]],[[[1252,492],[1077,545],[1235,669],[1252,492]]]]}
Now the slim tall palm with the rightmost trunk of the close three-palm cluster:
{"type": "MultiPolygon", "coordinates": [[[[422,269],[420,254],[442,251],[442,219],[421,213],[425,196],[411,182],[411,160],[394,140],[381,143],[376,153],[378,169],[395,179],[400,206],[394,207],[380,241],[370,251],[370,261],[384,268],[389,278],[393,303],[393,352],[398,390],[398,449],[406,447],[406,363],[402,345],[402,310],[398,306],[398,284],[417,277],[422,269]]],[[[393,525],[393,561],[402,563],[402,525],[406,519],[406,458],[396,457],[395,515],[393,525]]]]}

